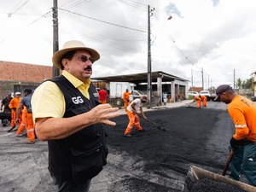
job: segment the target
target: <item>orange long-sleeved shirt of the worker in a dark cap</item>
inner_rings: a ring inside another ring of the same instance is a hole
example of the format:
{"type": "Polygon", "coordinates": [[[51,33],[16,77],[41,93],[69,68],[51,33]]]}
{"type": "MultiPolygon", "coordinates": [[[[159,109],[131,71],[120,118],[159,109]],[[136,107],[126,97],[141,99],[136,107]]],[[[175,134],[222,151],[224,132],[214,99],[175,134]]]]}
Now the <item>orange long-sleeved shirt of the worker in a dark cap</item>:
{"type": "Polygon", "coordinates": [[[228,110],[236,127],[233,137],[256,142],[256,103],[243,96],[235,96],[228,110]]]}

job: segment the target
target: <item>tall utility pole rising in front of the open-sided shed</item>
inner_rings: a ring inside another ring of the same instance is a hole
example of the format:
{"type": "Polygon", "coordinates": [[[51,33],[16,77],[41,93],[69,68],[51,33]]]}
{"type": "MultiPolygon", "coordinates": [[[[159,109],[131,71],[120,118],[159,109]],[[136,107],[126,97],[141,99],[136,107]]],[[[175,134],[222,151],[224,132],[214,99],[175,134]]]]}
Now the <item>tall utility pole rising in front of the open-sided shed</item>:
{"type": "Polygon", "coordinates": [[[150,9],[148,5],[148,108],[152,107],[152,73],[151,73],[151,39],[150,39],[150,16],[153,15],[154,9],[150,9]]]}

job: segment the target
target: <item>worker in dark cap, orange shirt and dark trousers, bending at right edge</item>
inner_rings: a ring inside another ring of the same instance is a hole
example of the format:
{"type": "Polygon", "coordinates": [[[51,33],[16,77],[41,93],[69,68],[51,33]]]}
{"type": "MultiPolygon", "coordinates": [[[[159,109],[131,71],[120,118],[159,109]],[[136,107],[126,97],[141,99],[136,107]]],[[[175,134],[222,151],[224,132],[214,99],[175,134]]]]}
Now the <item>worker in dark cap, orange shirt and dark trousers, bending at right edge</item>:
{"type": "Polygon", "coordinates": [[[240,173],[256,187],[256,103],[236,95],[228,84],[219,85],[214,101],[229,104],[228,111],[236,132],[230,139],[234,155],[230,161],[230,177],[239,180],[240,173]]]}

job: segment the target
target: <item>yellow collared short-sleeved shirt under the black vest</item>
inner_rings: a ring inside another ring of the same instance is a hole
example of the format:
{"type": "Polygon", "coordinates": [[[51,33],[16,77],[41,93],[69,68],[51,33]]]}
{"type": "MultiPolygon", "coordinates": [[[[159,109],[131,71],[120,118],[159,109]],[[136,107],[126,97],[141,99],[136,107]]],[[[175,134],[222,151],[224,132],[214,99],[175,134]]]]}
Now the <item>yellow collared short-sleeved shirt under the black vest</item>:
{"type": "MultiPolygon", "coordinates": [[[[78,88],[86,98],[90,99],[88,91],[90,87],[90,79],[83,83],[72,74],[67,73],[65,70],[62,72],[62,75],[70,81],[74,87],[78,88]]],[[[61,118],[63,117],[65,110],[65,98],[58,85],[54,82],[45,81],[34,91],[32,95],[32,112],[34,122],[36,122],[37,118],[61,118]]]]}

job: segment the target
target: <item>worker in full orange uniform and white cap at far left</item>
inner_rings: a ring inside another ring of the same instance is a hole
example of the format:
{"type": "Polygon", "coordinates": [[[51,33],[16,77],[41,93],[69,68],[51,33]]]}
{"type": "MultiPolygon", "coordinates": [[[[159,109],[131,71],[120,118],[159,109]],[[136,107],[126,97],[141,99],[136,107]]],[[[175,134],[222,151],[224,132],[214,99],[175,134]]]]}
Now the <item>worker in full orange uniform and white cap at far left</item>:
{"type": "Polygon", "coordinates": [[[21,93],[20,92],[15,92],[15,97],[9,102],[9,108],[12,109],[12,114],[11,114],[11,130],[13,130],[15,128],[15,120],[17,118],[20,119],[20,123],[21,123],[21,116],[22,114],[20,113],[20,116],[17,116],[17,108],[19,107],[20,101],[21,101],[22,97],[21,97],[21,93]]]}

